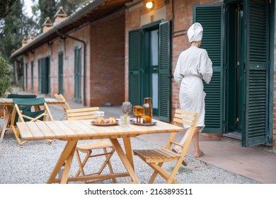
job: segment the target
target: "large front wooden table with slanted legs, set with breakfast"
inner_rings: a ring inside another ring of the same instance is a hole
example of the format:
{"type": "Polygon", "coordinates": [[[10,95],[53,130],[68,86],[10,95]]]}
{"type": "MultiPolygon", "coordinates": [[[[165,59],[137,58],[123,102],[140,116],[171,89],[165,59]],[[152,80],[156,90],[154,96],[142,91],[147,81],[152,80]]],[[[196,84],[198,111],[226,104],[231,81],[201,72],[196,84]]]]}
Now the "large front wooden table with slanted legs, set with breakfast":
{"type": "Polygon", "coordinates": [[[46,122],[21,122],[18,123],[18,129],[21,133],[22,139],[25,140],[42,140],[42,139],[61,139],[67,141],[57,164],[50,174],[47,183],[67,183],[78,180],[91,179],[108,179],[112,177],[126,177],[130,176],[133,183],[139,183],[137,175],[134,172],[134,163],[132,157],[132,146],[130,138],[141,134],[160,134],[168,132],[180,132],[182,127],[168,124],[156,120],[156,125],[153,126],[139,126],[130,124],[130,127],[121,127],[119,125],[98,127],[91,124],[91,120],[64,120],[64,121],[46,121],[46,122]],[[125,145],[125,152],[123,151],[119,138],[123,139],[125,145]],[[68,177],[71,168],[71,162],[74,157],[76,144],[79,140],[84,139],[110,139],[120,157],[122,163],[125,165],[127,174],[113,173],[108,175],[92,175],[68,177]],[[65,163],[64,172],[61,179],[57,179],[57,173],[65,163]]]}

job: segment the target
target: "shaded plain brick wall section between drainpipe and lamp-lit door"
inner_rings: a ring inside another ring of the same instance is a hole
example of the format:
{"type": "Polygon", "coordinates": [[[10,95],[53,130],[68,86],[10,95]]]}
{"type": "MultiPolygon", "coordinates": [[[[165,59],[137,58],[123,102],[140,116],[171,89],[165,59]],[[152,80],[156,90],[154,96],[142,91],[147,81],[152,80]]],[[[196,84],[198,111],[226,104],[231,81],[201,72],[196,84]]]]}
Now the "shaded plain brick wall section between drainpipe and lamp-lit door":
{"type": "Polygon", "coordinates": [[[125,101],[125,12],[91,24],[90,104],[125,101]]]}

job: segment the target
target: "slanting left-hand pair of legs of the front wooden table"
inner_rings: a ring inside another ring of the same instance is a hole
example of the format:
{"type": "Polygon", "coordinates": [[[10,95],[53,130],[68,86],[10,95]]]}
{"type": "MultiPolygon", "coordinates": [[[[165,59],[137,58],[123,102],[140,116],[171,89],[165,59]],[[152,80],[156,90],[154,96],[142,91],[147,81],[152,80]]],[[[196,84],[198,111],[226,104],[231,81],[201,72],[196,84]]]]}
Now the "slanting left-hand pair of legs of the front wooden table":
{"type": "Polygon", "coordinates": [[[76,149],[77,140],[68,141],[67,145],[64,147],[64,150],[62,151],[62,155],[59,157],[59,160],[57,161],[57,164],[54,166],[54,170],[52,170],[52,173],[47,180],[47,184],[53,183],[55,180],[55,177],[57,177],[57,173],[59,173],[60,168],[62,168],[62,165],[65,163],[64,172],[62,174],[62,180],[60,183],[67,183],[69,170],[71,168],[71,163],[74,157],[74,151],[76,149]]]}

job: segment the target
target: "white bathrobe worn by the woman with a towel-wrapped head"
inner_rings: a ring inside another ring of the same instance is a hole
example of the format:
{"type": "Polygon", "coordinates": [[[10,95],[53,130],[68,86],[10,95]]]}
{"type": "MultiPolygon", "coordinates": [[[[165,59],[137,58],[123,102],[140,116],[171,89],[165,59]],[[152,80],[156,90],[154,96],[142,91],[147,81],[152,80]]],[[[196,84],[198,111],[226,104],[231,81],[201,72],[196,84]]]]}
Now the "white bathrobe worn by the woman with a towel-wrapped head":
{"type": "MultiPolygon", "coordinates": [[[[174,71],[174,79],[180,84],[180,109],[198,112],[197,127],[205,127],[205,95],[202,79],[209,83],[213,74],[212,61],[207,51],[195,46],[181,52],[174,71]]],[[[190,126],[184,124],[187,129],[190,126]]]]}

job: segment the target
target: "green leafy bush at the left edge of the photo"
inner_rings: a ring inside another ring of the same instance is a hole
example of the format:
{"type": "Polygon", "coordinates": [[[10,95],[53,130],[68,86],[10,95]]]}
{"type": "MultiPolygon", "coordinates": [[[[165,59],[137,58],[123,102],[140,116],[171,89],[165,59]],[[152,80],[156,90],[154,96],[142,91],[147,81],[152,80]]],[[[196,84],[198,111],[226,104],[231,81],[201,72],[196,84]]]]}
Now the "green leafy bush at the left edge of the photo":
{"type": "Polygon", "coordinates": [[[11,72],[8,69],[8,61],[0,57],[0,97],[6,91],[11,91],[11,72]]]}

